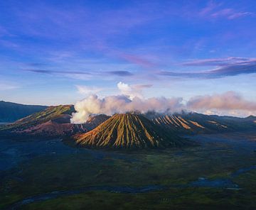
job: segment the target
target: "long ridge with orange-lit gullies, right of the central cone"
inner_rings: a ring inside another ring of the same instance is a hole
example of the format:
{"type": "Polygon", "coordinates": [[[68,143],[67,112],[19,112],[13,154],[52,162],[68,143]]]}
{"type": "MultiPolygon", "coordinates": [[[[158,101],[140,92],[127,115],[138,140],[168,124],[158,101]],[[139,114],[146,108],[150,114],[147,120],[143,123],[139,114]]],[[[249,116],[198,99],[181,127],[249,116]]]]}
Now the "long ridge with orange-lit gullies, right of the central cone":
{"type": "Polygon", "coordinates": [[[146,114],[156,125],[171,131],[185,133],[214,133],[228,131],[255,131],[255,117],[238,118],[198,113],[146,114]]]}

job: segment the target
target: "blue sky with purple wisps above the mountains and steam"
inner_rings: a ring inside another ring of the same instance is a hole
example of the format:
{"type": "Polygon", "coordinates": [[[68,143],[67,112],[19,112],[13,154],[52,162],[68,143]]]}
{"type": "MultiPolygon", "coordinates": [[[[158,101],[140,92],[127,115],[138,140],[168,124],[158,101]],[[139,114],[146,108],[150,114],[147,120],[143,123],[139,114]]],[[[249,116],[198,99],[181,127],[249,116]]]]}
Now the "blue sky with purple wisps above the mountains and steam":
{"type": "Polygon", "coordinates": [[[0,1],[0,99],[235,92],[256,101],[256,1],[0,1]]]}

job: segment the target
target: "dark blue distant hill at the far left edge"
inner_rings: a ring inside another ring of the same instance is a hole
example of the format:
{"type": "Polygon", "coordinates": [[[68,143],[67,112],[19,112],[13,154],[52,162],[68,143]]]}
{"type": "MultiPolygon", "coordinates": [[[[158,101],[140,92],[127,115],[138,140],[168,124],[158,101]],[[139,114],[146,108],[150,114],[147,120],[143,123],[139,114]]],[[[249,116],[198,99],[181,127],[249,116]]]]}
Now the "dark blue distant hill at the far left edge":
{"type": "Polygon", "coordinates": [[[47,106],[23,105],[0,101],[0,122],[14,122],[46,108],[47,106]]]}

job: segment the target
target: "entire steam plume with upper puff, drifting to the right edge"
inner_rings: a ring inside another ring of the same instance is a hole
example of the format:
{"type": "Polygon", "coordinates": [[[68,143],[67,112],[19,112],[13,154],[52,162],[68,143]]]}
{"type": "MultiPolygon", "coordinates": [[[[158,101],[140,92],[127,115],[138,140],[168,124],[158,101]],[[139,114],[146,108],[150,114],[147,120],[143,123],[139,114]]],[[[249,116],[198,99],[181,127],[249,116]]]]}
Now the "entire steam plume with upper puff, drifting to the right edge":
{"type": "Polygon", "coordinates": [[[119,82],[117,84],[121,95],[106,96],[99,98],[97,95],[90,95],[75,104],[75,111],[71,121],[73,123],[84,123],[92,114],[120,114],[129,111],[156,111],[169,114],[181,110],[197,111],[204,114],[220,114],[233,116],[247,116],[256,114],[256,102],[244,99],[235,92],[213,94],[192,97],[183,102],[183,98],[153,97],[144,99],[142,89],[149,88],[149,84],[130,86],[119,82]]]}

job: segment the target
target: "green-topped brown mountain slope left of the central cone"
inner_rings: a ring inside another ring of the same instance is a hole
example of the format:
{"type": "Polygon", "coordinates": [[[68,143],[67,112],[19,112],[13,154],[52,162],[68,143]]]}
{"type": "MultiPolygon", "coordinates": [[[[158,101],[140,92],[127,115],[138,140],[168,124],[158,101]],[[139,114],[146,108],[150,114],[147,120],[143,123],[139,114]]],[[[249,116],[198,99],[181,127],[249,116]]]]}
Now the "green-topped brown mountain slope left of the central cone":
{"type": "Polygon", "coordinates": [[[72,105],[50,106],[26,118],[22,118],[0,130],[28,136],[60,137],[83,133],[97,127],[109,116],[91,116],[86,123],[70,123],[71,114],[74,112],[72,105]]]}

